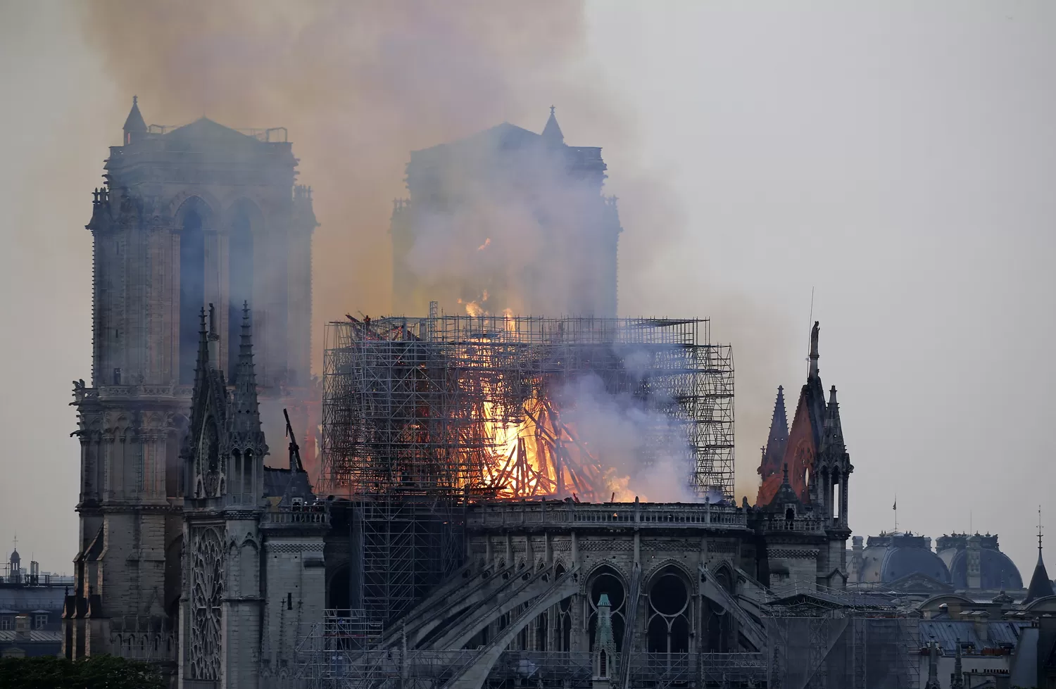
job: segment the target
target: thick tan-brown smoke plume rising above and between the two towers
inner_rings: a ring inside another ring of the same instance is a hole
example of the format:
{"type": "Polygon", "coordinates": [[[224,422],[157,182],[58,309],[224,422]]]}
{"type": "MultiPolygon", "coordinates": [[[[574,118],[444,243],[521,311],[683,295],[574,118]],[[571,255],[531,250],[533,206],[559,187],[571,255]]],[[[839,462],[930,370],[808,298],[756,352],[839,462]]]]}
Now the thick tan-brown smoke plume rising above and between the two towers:
{"type": "Polygon", "coordinates": [[[390,200],[410,151],[601,98],[570,73],[580,2],[112,0],[84,21],[148,123],[289,129],[322,224],[317,343],[327,319],[391,307],[390,200]]]}

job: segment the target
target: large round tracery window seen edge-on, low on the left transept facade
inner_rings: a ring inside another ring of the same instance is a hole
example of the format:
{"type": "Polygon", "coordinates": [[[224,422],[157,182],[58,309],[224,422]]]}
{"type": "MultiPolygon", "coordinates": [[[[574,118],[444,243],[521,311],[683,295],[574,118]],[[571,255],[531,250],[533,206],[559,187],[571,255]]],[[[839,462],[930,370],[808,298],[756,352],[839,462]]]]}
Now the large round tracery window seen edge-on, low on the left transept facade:
{"type": "Polygon", "coordinates": [[[191,634],[194,680],[219,680],[224,599],[224,538],[216,527],[191,532],[191,634]]]}

